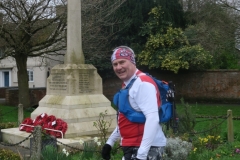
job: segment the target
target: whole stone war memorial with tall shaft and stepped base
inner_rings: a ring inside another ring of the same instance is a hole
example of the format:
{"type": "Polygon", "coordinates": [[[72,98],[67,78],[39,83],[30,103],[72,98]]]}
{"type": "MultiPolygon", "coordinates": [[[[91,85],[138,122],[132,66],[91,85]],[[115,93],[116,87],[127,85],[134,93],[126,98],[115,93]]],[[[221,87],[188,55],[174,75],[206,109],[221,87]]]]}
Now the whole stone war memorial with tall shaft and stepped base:
{"type": "MultiPolygon", "coordinates": [[[[85,64],[82,51],[81,1],[68,1],[67,16],[67,53],[64,64],[51,69],[47,79],[47,93],[39,106],[31,113],[31,119],[46,113],[64,120],[67,131],[58,140],[65,144],[79,143],[79,139],[89,140],[98,136],[99,131],[93,122],[99,120],[100,113],[107,112],[106,121],[112,121],[109,133],[116,126],[116,111],[111,102],[103,95],[102,79],[97,69],[85,64]]],[[[2,138],[10,143],[17,143],[30,133],[19,128],[2,130],[2,138]]],[[[29,147],[29,142],[20,145],[29,147]]]]}

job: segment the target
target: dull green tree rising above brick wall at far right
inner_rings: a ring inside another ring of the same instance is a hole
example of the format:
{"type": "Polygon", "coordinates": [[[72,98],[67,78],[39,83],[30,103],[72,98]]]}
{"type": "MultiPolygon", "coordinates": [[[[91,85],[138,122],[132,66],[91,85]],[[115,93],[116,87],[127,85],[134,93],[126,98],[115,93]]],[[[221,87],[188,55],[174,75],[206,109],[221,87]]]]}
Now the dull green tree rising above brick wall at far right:
{"type": "Polygon", "coordinates": [[[209,69],[239,69],[239,51],[235,48],[238,15],[221,5],[203,1],[197,10],[186,14],[189,26],[184,33],[191,45],[201,44],[213,57],[209,69]]]}

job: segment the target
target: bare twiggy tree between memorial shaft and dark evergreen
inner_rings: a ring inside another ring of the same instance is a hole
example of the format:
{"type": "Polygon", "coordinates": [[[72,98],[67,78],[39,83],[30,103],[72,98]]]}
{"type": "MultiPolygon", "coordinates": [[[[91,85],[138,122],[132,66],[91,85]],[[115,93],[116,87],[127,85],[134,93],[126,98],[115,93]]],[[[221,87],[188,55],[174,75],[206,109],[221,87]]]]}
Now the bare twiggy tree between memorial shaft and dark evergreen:
{"type": "Polygon", "coordinates": [[[86,63],[98,70],[110,67],[111,40],[130,21],[127,17],[114,17],[114,12],[126,0],[89,0],[82,3],[83,53],[86,63]],[[125,24],[125,25],[124,25],[125,24]],[[119,27],[121,26],[121,27],[119,27]]]}

